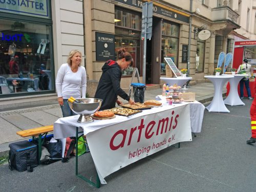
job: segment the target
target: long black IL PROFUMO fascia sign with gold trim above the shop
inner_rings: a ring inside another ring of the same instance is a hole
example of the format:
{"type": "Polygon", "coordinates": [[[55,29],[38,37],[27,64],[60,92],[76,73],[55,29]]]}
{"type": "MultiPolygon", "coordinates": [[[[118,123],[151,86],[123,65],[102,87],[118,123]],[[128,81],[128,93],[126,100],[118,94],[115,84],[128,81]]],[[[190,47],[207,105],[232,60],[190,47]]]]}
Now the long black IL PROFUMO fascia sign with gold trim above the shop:
{"type": "MultiPolygon", "coordinates": [[[[147,1],[143,0],[115,0],[116,2],[123,3],[126,5],[130,5],[136,8],[142,9],[142,5],[146,3],[147,1]]],[[[167,6],[161,5],[156,2],[153,3],[153,15],[159,14],[162,16],[166,16],[175,20],[179,20],[180,22],[189,23],[189,15],[186,13],[183,13],[181,11],[169,8],[167,6]]]]}

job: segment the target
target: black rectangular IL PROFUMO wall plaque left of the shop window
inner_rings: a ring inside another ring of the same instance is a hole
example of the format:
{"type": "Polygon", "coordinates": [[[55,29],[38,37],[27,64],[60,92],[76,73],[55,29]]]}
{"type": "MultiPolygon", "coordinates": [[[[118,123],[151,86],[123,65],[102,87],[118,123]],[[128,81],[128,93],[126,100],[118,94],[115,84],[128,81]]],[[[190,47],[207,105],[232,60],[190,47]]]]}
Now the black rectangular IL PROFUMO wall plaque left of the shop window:
{"type": "Polygon", "coordinates": [[[95,33],[96,60],[115,60],[115,35],[109,33],[95,33]]]}

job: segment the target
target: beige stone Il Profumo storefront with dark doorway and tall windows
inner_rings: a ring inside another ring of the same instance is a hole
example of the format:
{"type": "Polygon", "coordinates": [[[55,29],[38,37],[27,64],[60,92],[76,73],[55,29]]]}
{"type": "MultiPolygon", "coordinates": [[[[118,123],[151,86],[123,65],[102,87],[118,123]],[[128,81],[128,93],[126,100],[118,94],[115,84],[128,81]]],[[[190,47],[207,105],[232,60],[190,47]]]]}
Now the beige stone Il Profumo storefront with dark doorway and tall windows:
{"type": "MultiPolygon", "coordinates": [[[[105,57],[105,60],[97,60],[97,32],[114,35],[115,55],[118,49],[125,48],[133,56],[134,66],[123,71],[121,87],[129,87],[134,67],[138,68],[142,82],[144,40],[141,38],[141,18],[142,4],[145,2],[137,0],[84,2],[84,11],[92,10],[91,19],[88,16],[85,18],[86,27],[92,26],[91,31],[86,29],[85,37],[87,69],[93,71],[91,77],[89,76],[89,82],[90,80],[99,80],[102,73],[101,67],[106,60],[115,59],[110,56],[105,57]],[[108,7],[107,12],[105,7],[108,7]],[[89,33],[92,34],[91,41],[87,36],[89,33]],[[90,50],[90,46],[92,47],[92,57],[88,55],[90,52],[87,52],[87,49],[90,50]]],[[[172,58],[179,68],[186,67],[187,60],[182,63],[182,46],[188,46],[188,28],[189,14],[187,12],[176,10],[167,3],[153,2],[152,38],[147,40],[146,46],[146,84],[161,83],[160,77],[165,76],[164,57],[172,58]]],[[[94,94],[89,93],[89,95],[94,94]]]]}

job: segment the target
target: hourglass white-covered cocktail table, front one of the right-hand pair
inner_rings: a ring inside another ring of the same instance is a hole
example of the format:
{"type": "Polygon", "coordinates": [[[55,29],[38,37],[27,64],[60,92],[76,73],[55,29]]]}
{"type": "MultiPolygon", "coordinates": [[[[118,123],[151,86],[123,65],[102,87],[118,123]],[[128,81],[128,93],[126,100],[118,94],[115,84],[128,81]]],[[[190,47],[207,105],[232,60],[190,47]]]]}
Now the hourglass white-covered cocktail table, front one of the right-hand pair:
{"type": "Polygon", "coordinates": [[[226,108],[223,97],[222,97],[222,88],[224,84],[234,76],[225,76],[225,75],[205,75],[205,78],[209,79],[214,84],[214,98],[211,103],[205,108],[209,112],[226,112],[230,111],[226,108]]]}

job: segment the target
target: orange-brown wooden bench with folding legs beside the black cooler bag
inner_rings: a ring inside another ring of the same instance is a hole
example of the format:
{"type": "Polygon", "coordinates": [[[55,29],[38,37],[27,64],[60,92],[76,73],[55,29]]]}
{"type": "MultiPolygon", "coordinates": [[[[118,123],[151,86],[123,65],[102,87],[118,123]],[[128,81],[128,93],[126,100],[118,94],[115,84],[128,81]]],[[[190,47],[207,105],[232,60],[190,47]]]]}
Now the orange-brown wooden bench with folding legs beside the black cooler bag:
{"type": "Polygon", "coordinates": [[[23,130],[16,132],[17,135],[22,137],[32,136],[33,140],[38,137],[38,164],[40,164],[41,152],[42,152],[42,136],[46,137],[49,132],[53,131],[53,125],[40,126],[29,130],[23,130]]]}

